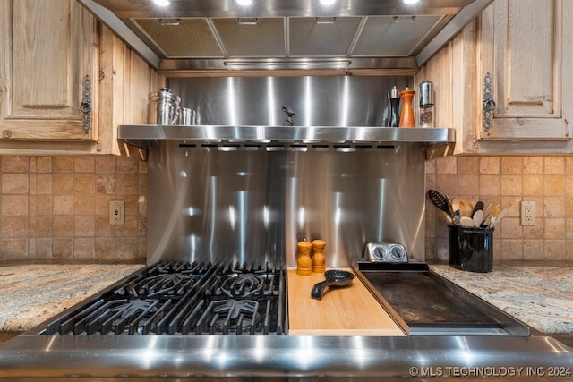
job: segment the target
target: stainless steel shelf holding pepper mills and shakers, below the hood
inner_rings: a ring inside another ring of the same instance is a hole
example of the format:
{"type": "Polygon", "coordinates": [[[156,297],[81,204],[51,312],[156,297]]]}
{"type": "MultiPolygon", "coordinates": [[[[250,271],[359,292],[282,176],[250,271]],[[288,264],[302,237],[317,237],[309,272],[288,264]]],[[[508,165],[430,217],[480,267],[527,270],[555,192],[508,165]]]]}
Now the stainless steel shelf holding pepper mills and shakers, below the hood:
{"type": "Polygon", "coordinates": [[[121,125],[121,140],[200,140],[287,143],[399,143],[448,144],[456,142],[450,128],[391,128],[372,126],[233,126],[233,125],[121,125]]]}

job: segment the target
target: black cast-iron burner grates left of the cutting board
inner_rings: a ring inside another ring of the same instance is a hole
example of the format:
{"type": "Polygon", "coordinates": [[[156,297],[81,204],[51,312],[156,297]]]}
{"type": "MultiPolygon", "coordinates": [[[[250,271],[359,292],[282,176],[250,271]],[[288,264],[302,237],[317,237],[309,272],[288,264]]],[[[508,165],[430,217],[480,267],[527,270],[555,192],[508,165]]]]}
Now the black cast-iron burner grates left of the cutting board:
{"type": "Polygon", "coordinates": [[[162,262],[47,325],[46,335],[286,335],[285,270],[162,262]]]}

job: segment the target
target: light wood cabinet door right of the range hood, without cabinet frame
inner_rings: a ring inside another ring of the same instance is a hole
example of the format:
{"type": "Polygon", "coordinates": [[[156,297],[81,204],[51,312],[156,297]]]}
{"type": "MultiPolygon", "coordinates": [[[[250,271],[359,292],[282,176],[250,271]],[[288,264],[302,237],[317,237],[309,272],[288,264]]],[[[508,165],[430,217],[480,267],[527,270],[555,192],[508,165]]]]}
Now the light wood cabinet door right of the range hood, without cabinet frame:
{"type": "Polygon", "coordinates": [[[495,107],[481,111],[478,139],[571,138],[570,3],[496,0],[483,12],[477,84],[495,107]]]}

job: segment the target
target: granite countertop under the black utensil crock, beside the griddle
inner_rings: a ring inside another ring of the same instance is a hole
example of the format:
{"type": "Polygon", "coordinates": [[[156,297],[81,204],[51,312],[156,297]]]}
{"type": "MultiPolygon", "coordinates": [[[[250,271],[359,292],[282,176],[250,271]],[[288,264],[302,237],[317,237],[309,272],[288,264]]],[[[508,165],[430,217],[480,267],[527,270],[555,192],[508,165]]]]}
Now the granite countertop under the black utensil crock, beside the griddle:
{"type": "Polygon", "coordinates": [[[573,264],[504,262],[473,273],[431,265],[435,273],[544,334],[573,335],[573,264]]]}

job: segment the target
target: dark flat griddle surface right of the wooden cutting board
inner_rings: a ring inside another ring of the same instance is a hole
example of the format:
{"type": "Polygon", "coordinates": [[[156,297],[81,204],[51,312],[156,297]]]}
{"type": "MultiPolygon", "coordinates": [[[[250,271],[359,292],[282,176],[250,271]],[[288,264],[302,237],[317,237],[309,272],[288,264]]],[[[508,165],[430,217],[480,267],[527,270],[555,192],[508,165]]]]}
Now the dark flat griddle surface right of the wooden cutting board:
{"type": "Polygon", "coordinates": [[[410,327],[500,327],[475,301],[453,293],[429,272],[363,272],[410,327]]]}

